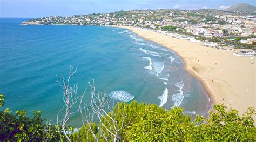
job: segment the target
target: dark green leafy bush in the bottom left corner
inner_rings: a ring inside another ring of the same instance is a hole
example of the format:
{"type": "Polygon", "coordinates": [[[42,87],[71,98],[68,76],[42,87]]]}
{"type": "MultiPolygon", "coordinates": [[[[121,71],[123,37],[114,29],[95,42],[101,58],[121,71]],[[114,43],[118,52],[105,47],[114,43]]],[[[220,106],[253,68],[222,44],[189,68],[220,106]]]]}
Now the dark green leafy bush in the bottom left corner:
{"type": "MultiPolygon", "coordinates": [[[[0,103],[4,104],[4,95],[0,95],[0,103]]],[[[2,105],[3,106],[3,105],[2,105]]],[[[2,107],[0,106],[0,107],[2,107]]],[[[63,132],[58,126],[44,123],[41,111],[34,111],[32,118],[26,116],[24,110],[15,114],[6,108],[0,111],[0,141],[62,141],[63,132]]]]}

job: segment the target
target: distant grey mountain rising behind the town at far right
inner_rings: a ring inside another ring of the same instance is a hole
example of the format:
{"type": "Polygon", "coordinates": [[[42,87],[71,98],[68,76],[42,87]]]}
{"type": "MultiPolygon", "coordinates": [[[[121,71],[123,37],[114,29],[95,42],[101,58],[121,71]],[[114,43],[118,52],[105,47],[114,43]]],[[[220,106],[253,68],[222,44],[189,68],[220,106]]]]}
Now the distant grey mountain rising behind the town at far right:
{"type": "Polygon", "coordinates": [[[225,10],[226,11],[256,11],[256,6],[253,6],[247,3],[239,3],[239,4],[230,6],[225,10]]]}

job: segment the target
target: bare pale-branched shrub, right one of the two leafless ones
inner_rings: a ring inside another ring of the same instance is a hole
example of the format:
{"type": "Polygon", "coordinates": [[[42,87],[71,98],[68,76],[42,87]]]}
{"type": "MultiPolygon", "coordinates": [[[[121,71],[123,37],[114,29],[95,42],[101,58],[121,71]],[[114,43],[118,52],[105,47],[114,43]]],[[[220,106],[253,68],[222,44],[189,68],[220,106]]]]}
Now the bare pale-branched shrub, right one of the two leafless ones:
{"type": "Polygon", "coordinates": [[[111,100],[106,96],[106,92],[95,93],[95,84],[94,80],[89,81],[89,85],[91,87],[91,101],[86,107],[84,107],[84,113],[80,110],[80,113],[83,116],[83,129],[89,130],[93,138],[96,141],[100,141],[100,139],[104,139],[105,141],[120,141],[121,140],[121,131],[127,125],[129,125],[130,121],[124,123],[127,117],[127,113],[123,112],[119,108],[119,105],[114,107],[112,110],[112,105],[110,104],[111,100]],[[109,113],[107,113],[109,111],[109,113]],[[95,131],[95,123],[92,123],[94,116],[99,121],[98,124],[98,133],[95,131]]]}

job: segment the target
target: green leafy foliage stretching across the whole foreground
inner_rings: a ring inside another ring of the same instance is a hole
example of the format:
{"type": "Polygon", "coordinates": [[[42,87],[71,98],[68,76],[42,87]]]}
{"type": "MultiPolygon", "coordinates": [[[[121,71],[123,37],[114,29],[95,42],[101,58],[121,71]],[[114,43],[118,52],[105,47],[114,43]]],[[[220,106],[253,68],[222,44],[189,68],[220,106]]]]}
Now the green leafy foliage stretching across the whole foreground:
{"type": "MultiPolygon", "coordinates": [[[[2,98],[0,96],[0,104],[3,103],[2,98]]],[[[127,114],[124,121],[127,126],[118,133],[120,141],[256,140],[256,129],[252,119],[255,111],[252,107],[242,117],[238,116],[238,111],[235,109],[226,111],[223,104],[214,105],[214,110],[210,113],[210,118],[197,116],[192,121],[189,116],[184,116],[183,109],[180,107],[164,110],[156,104],[132,101],[130,104],[123,102],[116,104],[109,115],[118,121],[118,125],[121,125],[119,111],[127,114]]],[[[4,112],[0,111],[0,141],[66,141],[58,126],[43,123],[41,112],[35,112],[31,119],[25,114],[25,111],[17,111],[16,114],[11,114],[8,109],[4,112]]],[[[104,141],[103,133],[107,136],[107,132],[98,131],[101,125],[90,123],[90,126],[96,137],[104,141]]],[[[77,132],[74,132],[72,127],[68,129],[71,132],[69,137],[72,141],[95,141],[88,124],[82,126],[77,132]]],[[[110,137],[109,141],[111,141],[110,137]]]]}

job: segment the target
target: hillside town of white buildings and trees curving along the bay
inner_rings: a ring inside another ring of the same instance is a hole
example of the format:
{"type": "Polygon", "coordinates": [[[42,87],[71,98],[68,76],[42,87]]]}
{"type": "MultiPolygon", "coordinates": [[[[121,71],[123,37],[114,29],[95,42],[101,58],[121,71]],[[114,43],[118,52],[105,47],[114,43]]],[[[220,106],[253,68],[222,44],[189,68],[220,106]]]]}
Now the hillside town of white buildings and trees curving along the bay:
{"type": "Polygon", "coordinates": [[[256,47],[256,13],[204,10],[132,10],[31,19],[22,25],[122,25],[232,50],[256,47]]]}

